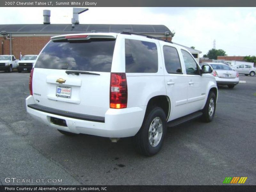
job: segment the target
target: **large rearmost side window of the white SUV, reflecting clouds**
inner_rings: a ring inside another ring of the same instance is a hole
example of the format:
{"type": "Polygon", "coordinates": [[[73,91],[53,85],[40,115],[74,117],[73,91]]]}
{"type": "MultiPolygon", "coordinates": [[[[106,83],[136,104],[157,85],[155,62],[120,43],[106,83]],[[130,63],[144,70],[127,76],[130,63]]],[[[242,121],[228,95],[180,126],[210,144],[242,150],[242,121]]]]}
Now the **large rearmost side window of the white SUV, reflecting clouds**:
{"type": "Polygon", "coordinates": [[[125,39],[125,72],[156,73],[158,56],[155,43],[125,39]]]}

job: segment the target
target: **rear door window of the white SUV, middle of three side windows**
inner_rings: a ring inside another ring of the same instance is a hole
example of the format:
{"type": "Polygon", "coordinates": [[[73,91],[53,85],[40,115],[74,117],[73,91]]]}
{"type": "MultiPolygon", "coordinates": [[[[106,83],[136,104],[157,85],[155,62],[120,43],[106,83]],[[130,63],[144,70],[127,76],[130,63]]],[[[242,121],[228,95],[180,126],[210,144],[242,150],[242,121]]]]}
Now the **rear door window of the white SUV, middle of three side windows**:
{"type": "Polygon", "coordinates": [[[164,64],[167,73],[181,73],[180,58],[174,47],[164,46],[164,64]]]}

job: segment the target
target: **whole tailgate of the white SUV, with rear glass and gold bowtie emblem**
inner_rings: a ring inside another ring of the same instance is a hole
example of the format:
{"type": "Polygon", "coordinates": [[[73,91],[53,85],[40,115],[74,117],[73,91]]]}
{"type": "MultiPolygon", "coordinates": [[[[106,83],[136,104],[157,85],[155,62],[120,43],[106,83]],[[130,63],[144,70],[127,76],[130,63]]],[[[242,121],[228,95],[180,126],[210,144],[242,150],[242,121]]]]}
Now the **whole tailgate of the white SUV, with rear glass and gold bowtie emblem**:
{"type": "Polygon", "coordinates": [[[76,35],[50,41],[33,72],[35,102],[67,112],[105,116],[115,38],[76,35]]]}

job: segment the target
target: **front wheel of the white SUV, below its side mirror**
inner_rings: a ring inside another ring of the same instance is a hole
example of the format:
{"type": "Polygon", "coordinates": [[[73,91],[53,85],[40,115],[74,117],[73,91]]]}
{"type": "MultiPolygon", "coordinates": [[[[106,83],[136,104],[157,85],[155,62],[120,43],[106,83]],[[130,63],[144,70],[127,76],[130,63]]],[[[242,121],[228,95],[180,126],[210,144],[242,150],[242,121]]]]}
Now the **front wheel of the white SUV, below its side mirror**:
{"type": "Polygon", "coordinates": [[[211,122],[214,117],[214,114],[215,114],[215,109],[216,109],[216,95],[214,92],[211,91],[211,92],[209,92],[207,101],[206,101],[204,109],[203,109],[202,121],[211,122]],[[210,108],[210,102],[211,102],[211,106],[212,106],[212,100],[214,101],[214,103],[213,103],[214,108],[213,108],[212,113],[210,114],[209,108],[210,108]]]}

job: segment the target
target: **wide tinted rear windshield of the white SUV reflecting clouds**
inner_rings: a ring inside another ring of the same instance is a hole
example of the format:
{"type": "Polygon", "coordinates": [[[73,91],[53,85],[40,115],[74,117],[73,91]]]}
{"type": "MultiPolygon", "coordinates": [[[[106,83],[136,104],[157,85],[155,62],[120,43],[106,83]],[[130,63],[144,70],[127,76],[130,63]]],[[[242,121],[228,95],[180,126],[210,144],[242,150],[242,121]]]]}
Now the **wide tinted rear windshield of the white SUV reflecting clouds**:
{"type": "Polygon", "coordinates": [[[35,68],[110,72],[115,39],[50,41],[35,68]]]}

